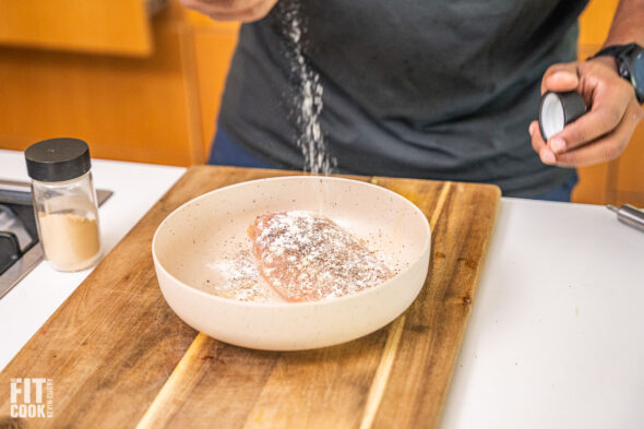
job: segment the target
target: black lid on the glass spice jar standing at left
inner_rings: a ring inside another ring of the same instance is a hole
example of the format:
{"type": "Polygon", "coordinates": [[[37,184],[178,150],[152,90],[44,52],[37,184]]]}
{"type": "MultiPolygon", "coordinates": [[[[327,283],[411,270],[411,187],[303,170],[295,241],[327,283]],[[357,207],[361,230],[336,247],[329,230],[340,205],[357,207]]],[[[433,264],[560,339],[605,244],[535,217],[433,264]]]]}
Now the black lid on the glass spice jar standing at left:
{"type": "Polygon", "coordinates": [[[90,146],[79,139],[49,139],[25,151],[29,177],[38,181],[65,181],[90,171],[90,146]]]}

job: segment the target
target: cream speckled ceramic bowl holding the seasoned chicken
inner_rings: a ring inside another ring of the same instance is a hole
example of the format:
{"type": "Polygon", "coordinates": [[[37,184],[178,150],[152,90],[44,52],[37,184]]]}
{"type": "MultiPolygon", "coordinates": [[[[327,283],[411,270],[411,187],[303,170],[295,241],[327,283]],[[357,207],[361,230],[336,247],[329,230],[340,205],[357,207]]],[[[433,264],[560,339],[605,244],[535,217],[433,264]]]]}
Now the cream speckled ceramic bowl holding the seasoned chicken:
{"type": "Polygon", "coordinates": [[[160,289],[190,326],[226,343],[266,350],[331,346],[367,335],[398,317],[420,291],[430,230],[405,198],[356,180],[291,176],[253,180],[201,195],[174,211],[152,242],[160,289]],[[258,215],[321,213],[381,251],[398,274],[354,295],[311,302],[246,302],[204,291],[213,262],[240,246],[258,215]]]}

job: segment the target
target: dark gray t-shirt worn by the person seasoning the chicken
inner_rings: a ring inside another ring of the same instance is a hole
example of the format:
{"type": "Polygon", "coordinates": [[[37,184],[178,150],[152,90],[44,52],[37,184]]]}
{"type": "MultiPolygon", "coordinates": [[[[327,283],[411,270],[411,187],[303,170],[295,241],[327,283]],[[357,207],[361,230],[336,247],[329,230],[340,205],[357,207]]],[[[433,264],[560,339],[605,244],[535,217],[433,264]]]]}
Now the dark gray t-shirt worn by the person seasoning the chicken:
{"type": "MultiPolygon", "coordinates": [[[[527,128],[546,69],[576,58],[586,0],[300,1],[335,171],[482,181],[517,196],[572,175],[540,163],[527,128]]],[[[241,27],[219,123],[258,157],[301,169],[282,9],[241,27]]]]}

